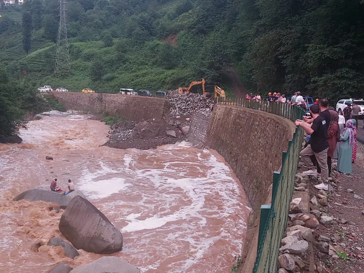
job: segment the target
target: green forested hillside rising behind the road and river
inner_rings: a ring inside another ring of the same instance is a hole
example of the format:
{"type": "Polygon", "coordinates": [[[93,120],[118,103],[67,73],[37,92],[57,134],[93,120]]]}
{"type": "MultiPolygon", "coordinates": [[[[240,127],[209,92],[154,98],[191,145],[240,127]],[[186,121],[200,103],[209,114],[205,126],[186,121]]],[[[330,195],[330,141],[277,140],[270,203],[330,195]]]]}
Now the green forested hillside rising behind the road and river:
{"type": "Polygon", "coordinates": [[[262,95],[301,91],[331,103],[363,97],[360,0],[68,0],[66,5],[71,72],[57,77],[52,75],[56,0],[2,8],[0,60],[10,75],[34,87],[115,92],[172,89],[204,77],[211,91],[215,84],[229,89],[225,72],[233,67],[248,91],[262,95]]]}

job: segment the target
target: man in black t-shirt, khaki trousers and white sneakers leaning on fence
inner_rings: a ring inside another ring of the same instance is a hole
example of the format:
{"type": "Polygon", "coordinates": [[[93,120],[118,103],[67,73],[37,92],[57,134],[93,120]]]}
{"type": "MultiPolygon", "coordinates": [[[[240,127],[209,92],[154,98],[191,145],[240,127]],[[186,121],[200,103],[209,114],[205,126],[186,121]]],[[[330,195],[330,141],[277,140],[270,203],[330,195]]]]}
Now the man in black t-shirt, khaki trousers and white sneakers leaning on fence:
{"type": "Polygon", "coordinates": [[[302,161],[308,167],[308,171],[304,171],[304,174],[317,175],[310,156],[314,155],[318,166],[321,168],[321,179],[323,183],[316,185],[317,189],[328,189],[329,181],[329,169],[327,165],[327,151],[329,150],[329,142],[327,141],[327,126],[326,120],[318,114],[319,106],[313,104],[310,107],[310,114],[313,121],[311,124],[297,119],[294,123],[296,126],[301,126],[308,134],[311,134],[311,144],[307,145],[300,153],[302,161]]]}

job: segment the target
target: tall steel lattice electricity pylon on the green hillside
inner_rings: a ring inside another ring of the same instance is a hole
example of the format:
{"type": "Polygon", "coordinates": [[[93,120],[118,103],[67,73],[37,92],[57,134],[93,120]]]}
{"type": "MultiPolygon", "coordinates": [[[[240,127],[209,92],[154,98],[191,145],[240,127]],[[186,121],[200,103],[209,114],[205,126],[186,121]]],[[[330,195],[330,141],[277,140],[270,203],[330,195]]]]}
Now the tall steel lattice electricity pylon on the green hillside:
{"type": "Polygon", "coordinates": [[[70,71],[70,51],[68,49],[67,27],[66,27],[66,0],[58,0],[59,3],[59,29],[56,49],[56,67],[54,72],[60,70],[70,71]]]}

